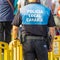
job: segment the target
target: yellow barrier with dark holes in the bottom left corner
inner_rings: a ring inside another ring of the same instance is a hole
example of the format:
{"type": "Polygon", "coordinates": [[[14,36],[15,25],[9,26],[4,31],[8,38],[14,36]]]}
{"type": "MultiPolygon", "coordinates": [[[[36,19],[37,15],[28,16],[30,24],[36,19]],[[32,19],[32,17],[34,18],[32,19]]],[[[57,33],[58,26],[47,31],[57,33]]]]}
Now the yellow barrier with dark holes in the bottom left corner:
{"type": "Polygon", "coordinates": [[[5,42],[0,42],[0,60],[9,60],[9,46],[5,42]]]}

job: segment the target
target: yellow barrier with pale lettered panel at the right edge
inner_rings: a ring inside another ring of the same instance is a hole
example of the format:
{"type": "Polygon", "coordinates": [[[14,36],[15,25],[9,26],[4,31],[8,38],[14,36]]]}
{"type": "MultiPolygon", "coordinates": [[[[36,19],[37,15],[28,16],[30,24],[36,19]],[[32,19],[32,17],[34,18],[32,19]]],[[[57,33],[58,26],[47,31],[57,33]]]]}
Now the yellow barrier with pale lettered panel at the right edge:
{"type": "Polygon", "coordinates": [[[53,56],[54,60],[60,60],[60,35],[54,37],[53,56]]]}

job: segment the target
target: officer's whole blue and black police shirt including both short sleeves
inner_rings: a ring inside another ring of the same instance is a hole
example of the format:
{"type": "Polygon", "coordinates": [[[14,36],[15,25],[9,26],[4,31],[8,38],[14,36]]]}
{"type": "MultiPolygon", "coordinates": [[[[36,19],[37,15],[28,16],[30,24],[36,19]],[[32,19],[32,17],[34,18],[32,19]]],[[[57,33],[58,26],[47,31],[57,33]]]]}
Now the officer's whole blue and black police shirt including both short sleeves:
{"type": "Polygon", "coordinates": [[[35,4],[35,3],[26,5],[25,7],[22,8],[22,10],[20,10],[20,14],[17,14],[17,16],[15,16],[15,18],[12,22],[12,25],[19,26],[22,23],[22,31],[25,31],[29,35],[47,36],[48,27],[55,26],[54,18],[53,18],[53,15],[51,14],[51,11],[48,8],[44,7],[43,8],[44,11],[46,12],[45,9],[47,9],[50,11],[50,14],[46,16],[46,14],[43,13],[44,14],[43,19],[45,21],[42,22],[42,19],[40,19],[41,18],[40,13],[42,13],[43,10],[41,11],[39,7],[42,8],[44,6],[40,5],[40,4],[35,4]],[[32,10],[30,11],[31,7],[34,11],[32,11],[32,10]],[[21,14],[21,11],[23,14],[21,14]],[[28,15],[27,15],[27,11],[29,12],[28,15]],[[35,14],[35,12],[37,14],[35,14]],[[27,19],[28,23],[26,22],[26,19],[27,19]],[[38,21],[38,22],[35,22],[35,21],[38,21]],[[48,23],[47,23],[47,21],[48,21],[48,23]]]}

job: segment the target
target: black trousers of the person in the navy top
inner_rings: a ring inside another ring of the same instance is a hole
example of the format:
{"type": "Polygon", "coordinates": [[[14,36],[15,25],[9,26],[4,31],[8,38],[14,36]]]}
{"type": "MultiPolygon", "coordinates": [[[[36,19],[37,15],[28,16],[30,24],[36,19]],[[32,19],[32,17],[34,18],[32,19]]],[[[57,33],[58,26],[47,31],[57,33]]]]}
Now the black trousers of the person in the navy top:
{"type": "Polygon", "coordinates": [[[11,41],[11,22],[0,22],[0,41],[9,43],[11,41]]]}

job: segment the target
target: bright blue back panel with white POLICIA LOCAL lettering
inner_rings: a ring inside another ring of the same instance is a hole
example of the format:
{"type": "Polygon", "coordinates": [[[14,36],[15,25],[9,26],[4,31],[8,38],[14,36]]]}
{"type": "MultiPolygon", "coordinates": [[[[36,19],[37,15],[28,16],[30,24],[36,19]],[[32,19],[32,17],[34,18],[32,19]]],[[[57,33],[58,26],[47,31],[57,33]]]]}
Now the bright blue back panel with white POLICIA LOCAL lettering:
{"type": "Polygon", "coordinates": [[[29,4],[21,8],[23,25],[47,25],[50,10],[40,4],[29,4]]]}

